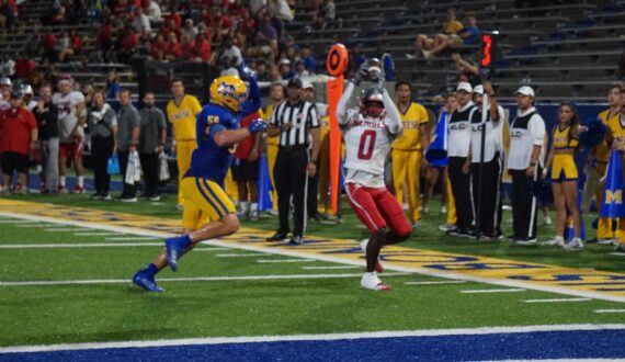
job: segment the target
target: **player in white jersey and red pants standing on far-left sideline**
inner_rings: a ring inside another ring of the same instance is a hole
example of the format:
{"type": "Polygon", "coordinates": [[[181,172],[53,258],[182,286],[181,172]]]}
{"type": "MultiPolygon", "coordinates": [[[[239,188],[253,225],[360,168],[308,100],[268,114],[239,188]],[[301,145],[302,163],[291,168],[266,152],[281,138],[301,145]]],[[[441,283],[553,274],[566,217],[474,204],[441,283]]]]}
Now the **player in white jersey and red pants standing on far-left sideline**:
{"type": "Polygon", "coordinates": [[[84,95],[72,90],[72,79],[63,75],[58,80],[58,92],[53,95],[53,103],[58,108],[59,133],[59,193],[67,193],[65,176],[67,158],[71,157],[78,184],[73,193],[84,193],[84,168],[82,149],[84,147],[84,95]]]}

